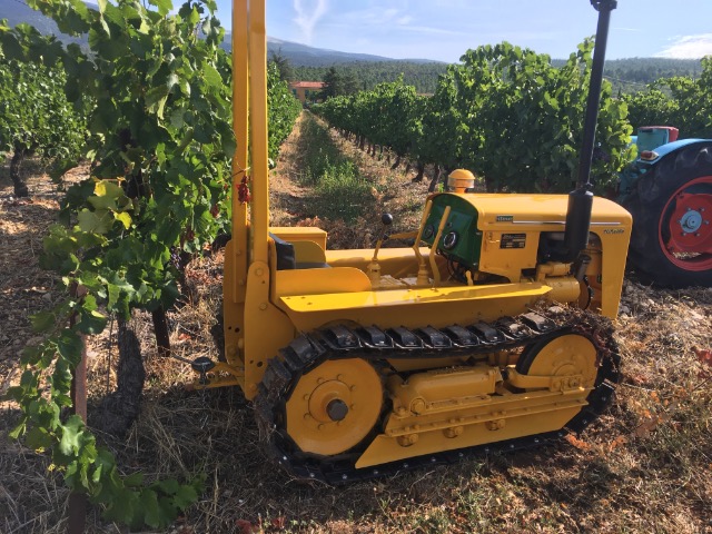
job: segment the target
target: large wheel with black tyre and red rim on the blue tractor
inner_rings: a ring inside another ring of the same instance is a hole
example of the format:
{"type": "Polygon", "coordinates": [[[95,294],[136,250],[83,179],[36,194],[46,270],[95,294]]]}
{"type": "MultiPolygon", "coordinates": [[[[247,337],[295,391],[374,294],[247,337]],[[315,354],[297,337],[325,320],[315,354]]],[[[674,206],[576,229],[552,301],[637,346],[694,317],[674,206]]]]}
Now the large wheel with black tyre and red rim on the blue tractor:
{"type": "Polygon", "coordinates": [[[629,266],[642,281],[712,286],[712,142],[665,156],[623,205],[633,216],[629,266]]]}

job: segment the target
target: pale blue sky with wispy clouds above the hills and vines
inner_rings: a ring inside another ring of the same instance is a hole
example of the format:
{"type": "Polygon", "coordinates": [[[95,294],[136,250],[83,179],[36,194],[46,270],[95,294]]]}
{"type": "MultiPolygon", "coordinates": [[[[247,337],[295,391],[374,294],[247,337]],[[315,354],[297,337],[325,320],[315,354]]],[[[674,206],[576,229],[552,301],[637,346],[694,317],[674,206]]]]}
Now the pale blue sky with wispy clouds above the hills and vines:
{"type": "MultiPolygon", "coordinates": [[[[218,17],[230,26],[230,0],[218,17]]],[[[510,41],[566,58],[595,33],[590,0],[267,0],[267,33],[344,52],[454,62],[510,41]]],[[[619,0],[607,58],[712,55],[712,0],[619,0]]]]}

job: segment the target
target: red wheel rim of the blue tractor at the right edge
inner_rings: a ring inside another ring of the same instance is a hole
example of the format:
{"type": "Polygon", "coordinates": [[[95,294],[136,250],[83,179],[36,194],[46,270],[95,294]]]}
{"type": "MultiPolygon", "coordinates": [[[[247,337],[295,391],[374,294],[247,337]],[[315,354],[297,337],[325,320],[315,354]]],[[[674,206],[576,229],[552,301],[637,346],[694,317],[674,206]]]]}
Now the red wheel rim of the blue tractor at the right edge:
{"type": "Polygon", "coordinates": [[[673,265],[693,271],[712,269],[712,176],[695,178],[670,196],[657,237],[673,265]]]}

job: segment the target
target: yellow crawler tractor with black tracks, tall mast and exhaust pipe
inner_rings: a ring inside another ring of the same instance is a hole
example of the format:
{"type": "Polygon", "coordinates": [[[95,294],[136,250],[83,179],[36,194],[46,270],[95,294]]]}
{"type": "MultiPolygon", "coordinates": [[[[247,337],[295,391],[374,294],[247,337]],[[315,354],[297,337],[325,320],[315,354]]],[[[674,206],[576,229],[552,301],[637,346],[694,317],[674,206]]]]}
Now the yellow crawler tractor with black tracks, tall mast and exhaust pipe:
{"type": "Polygon", "coordinates": [[[419,227],[392,236],[413,247],[382,249],[382,236],[350,250],[327,250],[318,228],[269,227],[264,3],[234,4],[225,362],[198,358],[196,386],[239,386],[278,461],[332,483],[586,426],[619,382],[605,317],[617,313],[631,234],[627,211],[594,198],[587,178],[615,2],[592,0],[586,184],[485,195],[456,170],[419,227]]]}

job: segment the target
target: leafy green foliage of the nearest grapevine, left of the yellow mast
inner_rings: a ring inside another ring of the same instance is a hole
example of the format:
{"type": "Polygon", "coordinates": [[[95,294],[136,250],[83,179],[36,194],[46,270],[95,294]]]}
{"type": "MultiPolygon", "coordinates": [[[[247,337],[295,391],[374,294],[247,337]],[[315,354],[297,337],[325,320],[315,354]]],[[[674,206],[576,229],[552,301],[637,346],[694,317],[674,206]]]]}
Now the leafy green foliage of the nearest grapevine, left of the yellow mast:
{"type": "MultiPolygon", "coordinates": [[[[179,289],[171,254],[197,251],[228,228],[235,139],[224,29],[214,0],[188,0],[177,12],[170,0],[100,0],[98,11],[82,0],[27,3],[65,33],[88,36],[86,52],[63,49],[26,24],[0,24],[9,61],[66,72],[65,95],[86,118],[92,166],[88,180],[68,189],[62,224],[43,241],[42,266],[60,274],[69,296],[32,317],[46,337],[23,352],[23,374],[9,392],[22,409],[11,435],[50,452],[68,486],[100,505],[106,518],[162,527],[197,498],[201,477],[144,483],[140,473],[122,476],[81,418],[66,417],[62,408],[71,405],[81,336],[100,333],[112,314],[168,309],[179,289]]],[[[277,113],[289,116],[275,116],[270,140],[284,139],[298,102],[274,80],[270,98],[287,110],[277,113]]]]}

